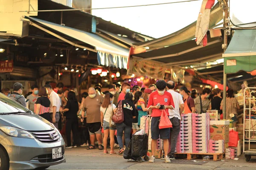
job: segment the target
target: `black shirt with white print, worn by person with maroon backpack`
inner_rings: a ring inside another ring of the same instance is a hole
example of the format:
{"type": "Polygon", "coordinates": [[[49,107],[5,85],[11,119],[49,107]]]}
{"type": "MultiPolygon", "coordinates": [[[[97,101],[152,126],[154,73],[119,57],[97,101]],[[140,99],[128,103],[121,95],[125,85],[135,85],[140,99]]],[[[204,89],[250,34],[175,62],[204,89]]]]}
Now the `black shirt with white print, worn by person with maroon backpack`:
{"type": "Polygon", "coordinates": [[[124,113],[124,124],[132,127],[133,116],[136,116],[136,107],[133,102],[129,100],[122,100],[122,108],[124,113]]]}

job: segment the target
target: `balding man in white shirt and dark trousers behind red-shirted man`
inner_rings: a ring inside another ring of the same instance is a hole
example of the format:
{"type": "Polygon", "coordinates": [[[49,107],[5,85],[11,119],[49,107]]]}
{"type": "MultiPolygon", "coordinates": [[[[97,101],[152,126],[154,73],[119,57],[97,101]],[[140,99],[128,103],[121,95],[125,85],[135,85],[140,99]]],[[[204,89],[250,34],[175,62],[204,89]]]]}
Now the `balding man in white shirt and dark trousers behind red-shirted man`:
{"type": "Polygon", "coordinates": [[[177,143],[177,137],[180,133],[180,120],[181,119],[181,113],[184,110],[184,102],[182,99],[182,96],[174,91],[175,88],[175,82],[169,81],[167,82],[167,90],[170,94],[172,94],[173,102],[175,105],[175,109],[171,110],[169,109],[169,119],[172,122],[172,128],[170,130],[170,139],[169,139],[169,156],[170,159],[175,159],[174,153],[175,153],[175,147],[177,143]]]}

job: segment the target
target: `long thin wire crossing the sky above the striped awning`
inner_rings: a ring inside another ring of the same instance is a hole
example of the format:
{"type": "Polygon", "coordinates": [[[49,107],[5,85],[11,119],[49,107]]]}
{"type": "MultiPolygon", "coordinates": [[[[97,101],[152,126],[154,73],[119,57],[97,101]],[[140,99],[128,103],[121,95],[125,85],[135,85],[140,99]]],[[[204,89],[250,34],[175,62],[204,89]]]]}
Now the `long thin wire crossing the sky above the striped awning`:
{"type": "Polygon", "coordinates": [[[170,3],[155,3],[155,4],[137,5],[137,6],[117,6],[117,7],[107,7],[107,8],[53,9],[53,10],[19,11],[19,12],[81,11],[81,10],[97,10],[97,9],[131,8],[131,7],[139,7],[139,6],[166,5],[171,3],[185,3],[185,2],[192,2],[192,1],[199,1],[199,0],[185,0],[185,1],[178,1],[178,2],[170,2],[170,3]]]}

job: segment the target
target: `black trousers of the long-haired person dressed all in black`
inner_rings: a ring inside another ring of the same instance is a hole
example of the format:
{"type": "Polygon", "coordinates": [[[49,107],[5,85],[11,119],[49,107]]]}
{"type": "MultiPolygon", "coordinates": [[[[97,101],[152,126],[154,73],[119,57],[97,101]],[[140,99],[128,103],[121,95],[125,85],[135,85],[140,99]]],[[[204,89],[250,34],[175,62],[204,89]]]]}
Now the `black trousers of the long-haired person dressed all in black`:
{"type": "Polygon", "coordinates": [[[78,120],[66,119],[67,146],[71,146],[71,130],[73,133],[73,146],[77,144],[78,120]]]}

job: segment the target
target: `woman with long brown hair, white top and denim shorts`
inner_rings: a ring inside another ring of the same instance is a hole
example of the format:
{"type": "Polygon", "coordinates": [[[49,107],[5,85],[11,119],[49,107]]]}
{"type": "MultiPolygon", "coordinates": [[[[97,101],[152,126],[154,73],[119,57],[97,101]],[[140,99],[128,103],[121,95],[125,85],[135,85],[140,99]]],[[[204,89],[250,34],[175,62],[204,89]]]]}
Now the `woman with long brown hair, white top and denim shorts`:
{"type": "Polygon", "coordinates": [[[110,137],[110,154],[116,154],[114,151],[114,144],[115,144],[115,131],[116,128],[110,127],[109,121],[113,112],[116,112],[116,106],[113,103],[113,94],[107,93],[104,97],[104,101],[100,107],[101,113],[101,123],[104,130],[104,138],[103,138],[103,145],[104,145],[104,154],[108,153],[107,145],[108,145],[108,136],[110,137]]]}

